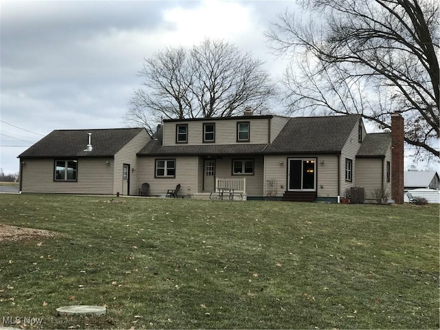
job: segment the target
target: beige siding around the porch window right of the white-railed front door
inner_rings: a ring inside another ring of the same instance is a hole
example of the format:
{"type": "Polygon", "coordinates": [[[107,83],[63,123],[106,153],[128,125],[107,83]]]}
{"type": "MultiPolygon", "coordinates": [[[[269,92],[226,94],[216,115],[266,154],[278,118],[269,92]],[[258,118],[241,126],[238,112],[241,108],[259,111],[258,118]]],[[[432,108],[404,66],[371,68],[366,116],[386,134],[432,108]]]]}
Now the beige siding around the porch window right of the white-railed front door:
{"type": "Polygon", "coordinates": [[[248,197],[263,196],[264,159],[263,156],[222,157],[216,160],[215,177],[220,179],[246,179],[248,197]],[[254,159],[254,175],[232,175],[232,159],[254,159]]]}

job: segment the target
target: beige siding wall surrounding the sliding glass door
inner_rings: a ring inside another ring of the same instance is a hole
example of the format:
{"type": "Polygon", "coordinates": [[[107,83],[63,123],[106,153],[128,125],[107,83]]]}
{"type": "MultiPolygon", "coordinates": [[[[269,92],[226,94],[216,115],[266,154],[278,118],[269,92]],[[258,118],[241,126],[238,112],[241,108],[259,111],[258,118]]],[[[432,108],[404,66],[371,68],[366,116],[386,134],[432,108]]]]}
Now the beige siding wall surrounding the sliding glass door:
{"type": "Polygon", "coordinates": [[[338,196],[338,155],[266,155],[265,196],[282,197],[287,190],[287,159],[316,158],[316,189],[318,197],[338,196]],[[270,182],[274,186],[270,187],[270,182]],[[275,191],[274,191],[275,190],[275,191]]]}

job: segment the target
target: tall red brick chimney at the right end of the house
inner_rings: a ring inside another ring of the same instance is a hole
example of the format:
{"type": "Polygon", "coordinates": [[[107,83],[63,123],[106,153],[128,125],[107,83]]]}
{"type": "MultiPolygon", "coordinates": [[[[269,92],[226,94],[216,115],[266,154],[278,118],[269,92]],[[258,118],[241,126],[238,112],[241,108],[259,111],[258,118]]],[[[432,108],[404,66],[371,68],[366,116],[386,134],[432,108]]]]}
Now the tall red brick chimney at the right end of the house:
{"type": "Polygon", "coordinates": [[[399,112],[391,115],[391,198],[404,203],[404,118],[399,112]]]}

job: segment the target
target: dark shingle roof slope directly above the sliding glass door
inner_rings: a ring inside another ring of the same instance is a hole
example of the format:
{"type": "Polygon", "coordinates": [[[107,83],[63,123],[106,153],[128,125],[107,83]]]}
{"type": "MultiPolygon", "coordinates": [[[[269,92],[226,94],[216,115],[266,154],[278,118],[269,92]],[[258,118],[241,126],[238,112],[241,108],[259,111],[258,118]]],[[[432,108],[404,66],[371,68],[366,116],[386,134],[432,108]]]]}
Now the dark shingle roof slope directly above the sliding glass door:
{"type": "Polygon", "coordinates": [[[360,115],[291,118],[265,153],[339,153],[360,115]]]}

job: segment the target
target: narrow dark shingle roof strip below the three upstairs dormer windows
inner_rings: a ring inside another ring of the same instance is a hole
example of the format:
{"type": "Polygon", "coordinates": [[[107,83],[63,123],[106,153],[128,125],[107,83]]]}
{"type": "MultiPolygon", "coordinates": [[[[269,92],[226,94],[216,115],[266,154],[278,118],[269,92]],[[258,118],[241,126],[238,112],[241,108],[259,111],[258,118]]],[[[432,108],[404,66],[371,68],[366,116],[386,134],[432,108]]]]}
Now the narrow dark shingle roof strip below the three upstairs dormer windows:
{"type": "Polygon", "coordinates": [[[236,155],[262,153],[267,144],[202,144],[197,146],[162,146],[151,140],[137,155],[236,155]]]}

